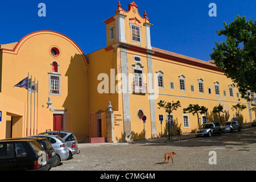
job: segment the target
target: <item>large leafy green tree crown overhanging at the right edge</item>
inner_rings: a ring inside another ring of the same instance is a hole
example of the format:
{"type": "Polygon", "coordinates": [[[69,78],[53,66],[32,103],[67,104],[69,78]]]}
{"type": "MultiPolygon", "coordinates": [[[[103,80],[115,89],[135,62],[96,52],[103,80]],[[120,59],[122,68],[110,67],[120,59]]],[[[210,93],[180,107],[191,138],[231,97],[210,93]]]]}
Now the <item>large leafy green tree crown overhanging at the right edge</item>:
{"type": "Polygon", "coordinates": [[[224,28],[216,31],[226,40],[220,44],[215,42],[216,48],[210,55],[212,63],[232,79],[242,98],[250,101],[247,92],[256,93],[256,20],[237,15],[233,22],[224,22],[224,28]]]}

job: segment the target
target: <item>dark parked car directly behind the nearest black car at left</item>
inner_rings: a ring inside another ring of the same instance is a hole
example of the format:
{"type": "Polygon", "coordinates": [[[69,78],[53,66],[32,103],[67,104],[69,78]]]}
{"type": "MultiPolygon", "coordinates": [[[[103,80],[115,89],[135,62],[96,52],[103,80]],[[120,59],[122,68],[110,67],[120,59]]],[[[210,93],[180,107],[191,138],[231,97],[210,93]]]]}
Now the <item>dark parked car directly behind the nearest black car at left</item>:
{"type": "Polygon", "coordinates": [[[49,140],[47,140],[46,138],[38,138],[38,137],[22,137],[22,138],[7,138],[5,140],[16,140],[16,139],[34,139],[36,141],[38,141],[38,143],[40,144],[41,147],[44,148],[44,150],[47,152],[48,154],[48,163],[49,163],[49,169],[51,169],[52,167],[56,167],[59,165],[58,162],[58,158],[56,155],[56,152],[54,150],[54,148],[52,147],[52,144],[49,142],[49,140]]]}

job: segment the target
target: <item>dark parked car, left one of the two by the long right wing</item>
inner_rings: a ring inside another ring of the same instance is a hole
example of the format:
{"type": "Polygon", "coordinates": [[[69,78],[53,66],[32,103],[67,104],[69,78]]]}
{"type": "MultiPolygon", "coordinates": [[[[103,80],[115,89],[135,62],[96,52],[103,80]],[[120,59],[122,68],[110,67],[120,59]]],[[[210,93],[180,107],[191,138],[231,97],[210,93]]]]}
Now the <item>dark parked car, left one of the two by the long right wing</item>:
{"type": "Polygon", "coordinates": [[[212,137],[212,134],[216,133],[221,135],[221,126],[218,122],[204,123],[200,126],[199,130],[196,130],[195,132],[196,137],[203,137],[206,135],[212,137]]]}

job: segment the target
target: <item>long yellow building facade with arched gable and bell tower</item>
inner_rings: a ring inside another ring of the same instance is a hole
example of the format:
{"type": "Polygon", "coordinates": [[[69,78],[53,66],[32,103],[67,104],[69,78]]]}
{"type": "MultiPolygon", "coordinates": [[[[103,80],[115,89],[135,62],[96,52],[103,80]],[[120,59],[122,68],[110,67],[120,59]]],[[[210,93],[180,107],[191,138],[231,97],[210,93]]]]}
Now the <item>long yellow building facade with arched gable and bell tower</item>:
{"type": "Polygon", "coordinates": [[[180,101],[171,118],[181,133],[197,128],[196,115],[183,113],[189,104],[208,108],[200,115],[201,123],[218,121],[211,112],[218,104],[224,105],[226,121],[234,119],[232,105],[238,103],[247,106],[241,113],[244,123],[255,118],[250,110],[254,102],[243,100],[232,80],[214,64],[152,47],[153,25],[146,11],[139,15],[135,2],[127,11],[118,2],[104,22],[106,47],[88,55],[53,31],[33,32],[19,42],[1,45],[0,138],[48,129],[74,131],[81,142],[158,137],[167,128],[167,113],[158,109],[160,100],[180,101]],[[27,76],[38,81],[38,93],[14,87],[27,76]]]}

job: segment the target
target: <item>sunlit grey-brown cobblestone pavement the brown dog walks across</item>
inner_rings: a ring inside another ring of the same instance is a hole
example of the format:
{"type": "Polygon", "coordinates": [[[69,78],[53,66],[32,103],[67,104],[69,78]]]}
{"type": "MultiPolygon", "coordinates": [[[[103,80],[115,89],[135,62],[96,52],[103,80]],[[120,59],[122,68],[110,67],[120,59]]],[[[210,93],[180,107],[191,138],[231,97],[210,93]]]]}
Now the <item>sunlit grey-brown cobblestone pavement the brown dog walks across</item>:
{"type": "Polygon", "coordinates": [[[256,127],[211,138],[182,135],[180,140],[84,146],[80,151],[51,171],[255,171],[256,127]],[[172,151],[176,152],[174,163],[163,164],[163,154],[172,151]],[[216,152],[216,164],[209,164],[214,162],[210,151],[216,152]]]}

